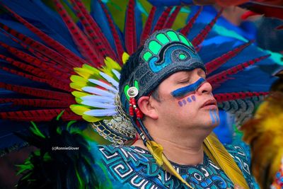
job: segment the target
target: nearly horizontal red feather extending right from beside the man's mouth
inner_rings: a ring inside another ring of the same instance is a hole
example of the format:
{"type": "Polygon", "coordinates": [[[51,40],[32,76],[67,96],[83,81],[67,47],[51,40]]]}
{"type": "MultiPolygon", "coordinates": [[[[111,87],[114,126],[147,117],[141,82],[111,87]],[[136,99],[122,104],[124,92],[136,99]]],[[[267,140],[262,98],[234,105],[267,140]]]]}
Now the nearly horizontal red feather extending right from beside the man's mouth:
{"type": "Polygon", "coordinates": [[[219,93],[215,94],[214,98],[218,103],[224,101],[233,101],[253,96],[266,96],[269,92],[238,92],[238,93],[219,93]]]}

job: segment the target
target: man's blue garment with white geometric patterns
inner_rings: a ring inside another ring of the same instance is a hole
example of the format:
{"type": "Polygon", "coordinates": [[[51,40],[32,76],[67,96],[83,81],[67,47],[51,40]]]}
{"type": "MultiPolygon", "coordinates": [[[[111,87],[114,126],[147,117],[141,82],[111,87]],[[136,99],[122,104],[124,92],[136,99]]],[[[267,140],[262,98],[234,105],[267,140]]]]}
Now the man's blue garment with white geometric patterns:
{"type": "MultiPolygon", "coordinates": [[[[250,176],[249,155],[240,146],[226,145],[236,164],[241,168],[249,188],[258,188],[250,176]]],[[[125,188],[187,188],[178,178],[160,168],[154,157],[140,147],[98,146],[102,163],[112,178],[125,188]]],[[[234,188],[231,180],[204,154],[203,164],[185,166],[171,162],[178,173],[193,188],[234,188]]]]}

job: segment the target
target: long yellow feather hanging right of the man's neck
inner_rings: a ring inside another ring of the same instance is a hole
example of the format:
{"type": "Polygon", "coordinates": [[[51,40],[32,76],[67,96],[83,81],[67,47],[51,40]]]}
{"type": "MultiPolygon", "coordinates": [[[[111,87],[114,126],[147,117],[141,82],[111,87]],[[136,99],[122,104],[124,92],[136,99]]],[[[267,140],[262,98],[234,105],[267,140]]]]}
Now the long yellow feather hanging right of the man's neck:
{"type": "Polygon", "coordinates": [[[204,152],[212,159],[214,164],[220,166],[234,185],[248,188],[248,183],[243,177],[242,171],[214,133],[209,134],[209,136],[204,139],[204,152]]]}

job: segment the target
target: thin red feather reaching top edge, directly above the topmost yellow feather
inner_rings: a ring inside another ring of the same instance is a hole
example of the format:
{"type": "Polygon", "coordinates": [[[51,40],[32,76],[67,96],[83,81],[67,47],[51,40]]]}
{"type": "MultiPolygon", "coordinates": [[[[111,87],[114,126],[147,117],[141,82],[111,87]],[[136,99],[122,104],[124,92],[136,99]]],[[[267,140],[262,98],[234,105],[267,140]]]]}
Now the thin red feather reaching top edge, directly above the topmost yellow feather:
{"type": "Polygon", "coordinates": [[[125,51],[123,46],[122,46],[122,42],[121,42],[121,40],[119,38],[119,35],[117,33],[117,30],[115,28],[113,20],[110,17],[110,13],[109,13],[108,9],[105,7],[105,5],[101,1],[98,1],[98,2],[100,3],[100,6],[103,8],[105,16],[106,16],[106,18],[108,20],[108,23],[109,23],[109,26],[110,26],[110,30],[111,30],[113,38],[114,38],[115,47],[116,47],[117,55],[118,55],[118,60],[120,62],[120,65],[122,65],[123,64],[122,63],[122,55],[123,55],[123,52],[125,51]]]}

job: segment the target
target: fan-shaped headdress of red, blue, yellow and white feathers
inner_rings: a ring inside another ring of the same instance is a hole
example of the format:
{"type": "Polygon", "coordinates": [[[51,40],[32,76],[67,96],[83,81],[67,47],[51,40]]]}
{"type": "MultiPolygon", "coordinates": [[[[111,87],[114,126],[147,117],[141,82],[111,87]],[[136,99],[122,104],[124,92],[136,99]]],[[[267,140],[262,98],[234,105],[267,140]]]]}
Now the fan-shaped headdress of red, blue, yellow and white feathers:
{"type": "MultiPolygon", "coordinates": [[[[5,75],[5,79],[0,79],[3,88],[0,118],[44,122],[64,110],[62,120],[85,120],[88,130],[93,128],[110,142],[131,142],[137,131],[117,96],[121,66],[151,33],[171,28],[181,7],[152,7],[141,30],[137,2],[129,0],[122,33],[103,2],[92,1],[94,14],[88,13],[81,1],[64,2],[54,0],[57,11],[54,13],[41,1],[1,1],[6,14],[0,19],[1,74],[5,75]],[[70,11],[79,19],[78,24],[70,11]]],[[[201,11],[200,8],[180,33],[192,38],[192,45],[204,59],[207,81],[214,87],[219,107],[234,112],[243,105],[253,109],[260,96],[268,93],[270,76],[252,65],[267,60],[269,55],[255,50],[253,42],[236,42],[236,47],[234,42],[227,42],[219,45],[219,49],[211,43],[202,45],[221,11],[207,25],[194,27],[201,11]],[[190,35],[190,32],[197,34],[190,35]],[[245,50],[255,50],[257,56],[237,59],[245,50]],[[260,91],[258,84],[265,90],[260,91]],[[243,99],[242,104],[239,99],[243,99]]],[[[11,136],[13,131],[25,130],[21,123],[17,128],[6,127],[1,135],[11,136]]],[[[10,139],[1,144],[11,147],[13,137],[2,138],[3,141],[10,139]]],[[[212,147],[209,151],[215,149],[212,142],[209,146],[212,147]]]]}

